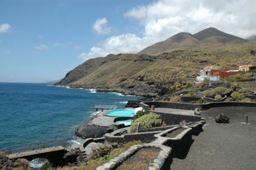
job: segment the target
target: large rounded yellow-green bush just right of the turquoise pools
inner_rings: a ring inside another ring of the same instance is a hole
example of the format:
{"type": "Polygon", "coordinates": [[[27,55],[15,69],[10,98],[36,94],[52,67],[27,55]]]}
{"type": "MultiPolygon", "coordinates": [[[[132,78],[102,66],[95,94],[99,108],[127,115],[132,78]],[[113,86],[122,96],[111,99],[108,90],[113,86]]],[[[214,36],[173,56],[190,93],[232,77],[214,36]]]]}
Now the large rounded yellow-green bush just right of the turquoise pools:
{"type": "Polygon", "coordinates": [[[138,122],[141,124],[141,129],[159,127],[162,124],[162,118],[158,114],[150,113],[141,116],[141,118],[133,120],[131,124],[131,132],[135,132],[138,122]]]}

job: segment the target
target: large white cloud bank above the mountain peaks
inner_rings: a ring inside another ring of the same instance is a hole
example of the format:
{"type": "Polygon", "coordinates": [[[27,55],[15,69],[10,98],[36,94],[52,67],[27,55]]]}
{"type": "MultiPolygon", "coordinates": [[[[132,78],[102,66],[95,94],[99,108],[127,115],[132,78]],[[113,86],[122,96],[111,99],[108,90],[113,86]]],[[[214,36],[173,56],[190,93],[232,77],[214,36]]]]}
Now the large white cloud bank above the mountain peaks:
{"type": "Polygon", "coordinates": [[[247,38],[256,34],[255,6],[254,0],[158,0],[135,6],[124,16],[138,21],[137,27],[143,28],[142,36],[131,33],[115,35],[79,56],[89,59],[110,53],[138,52],[174,34],[194,34],[207,27],[247,38]]]}

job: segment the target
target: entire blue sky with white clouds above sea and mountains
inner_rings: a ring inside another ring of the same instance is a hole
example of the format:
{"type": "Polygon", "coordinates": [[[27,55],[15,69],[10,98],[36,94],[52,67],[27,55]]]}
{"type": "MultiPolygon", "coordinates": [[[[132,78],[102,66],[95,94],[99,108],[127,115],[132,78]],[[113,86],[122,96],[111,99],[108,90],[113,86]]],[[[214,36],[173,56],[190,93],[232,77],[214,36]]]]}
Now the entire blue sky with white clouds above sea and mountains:
{"type": "Polygon", "coordinates": [[[255,0],[0,0],[0,82],[63,78],[87,59],[207,27],[256,34],[255,0]]]}

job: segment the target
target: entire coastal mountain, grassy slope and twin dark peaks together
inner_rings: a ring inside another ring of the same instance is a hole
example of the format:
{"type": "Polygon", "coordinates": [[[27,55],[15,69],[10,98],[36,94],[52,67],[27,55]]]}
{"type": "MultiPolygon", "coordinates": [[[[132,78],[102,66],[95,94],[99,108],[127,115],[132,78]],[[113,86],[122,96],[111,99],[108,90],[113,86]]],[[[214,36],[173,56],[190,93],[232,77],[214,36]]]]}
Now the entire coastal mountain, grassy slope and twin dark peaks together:
{"type": "Polygon", "coordinates": [[[178,80],[195,77],[199,68],[208,64],[231,69],[256,64],[250,52],[256,49],[256,42],[212,28],[194,35],[179,33],[146,49],[157,54],[109,54],[89,59],[57,85],[155,96],[178,80]]]}

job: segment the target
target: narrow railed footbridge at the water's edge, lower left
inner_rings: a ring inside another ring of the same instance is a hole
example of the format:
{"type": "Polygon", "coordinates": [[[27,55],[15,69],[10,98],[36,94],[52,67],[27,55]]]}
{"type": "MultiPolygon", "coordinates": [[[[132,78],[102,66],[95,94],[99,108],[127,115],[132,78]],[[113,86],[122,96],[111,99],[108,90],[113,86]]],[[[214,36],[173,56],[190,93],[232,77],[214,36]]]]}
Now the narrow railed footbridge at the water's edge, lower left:
{"type": "Polygon", "coordinates": [[[30,144],[21,144],[13,145],[3,149],[5,155],[9,158],[22,157],[26,155],[34,155],[36,153],[44,153],[50,151],[57,151],[64,149],[67,146],[65,141],[58,142],[48,142],[48,143],[30,143],[30,144]]]}

